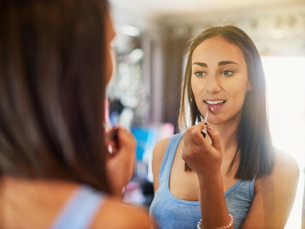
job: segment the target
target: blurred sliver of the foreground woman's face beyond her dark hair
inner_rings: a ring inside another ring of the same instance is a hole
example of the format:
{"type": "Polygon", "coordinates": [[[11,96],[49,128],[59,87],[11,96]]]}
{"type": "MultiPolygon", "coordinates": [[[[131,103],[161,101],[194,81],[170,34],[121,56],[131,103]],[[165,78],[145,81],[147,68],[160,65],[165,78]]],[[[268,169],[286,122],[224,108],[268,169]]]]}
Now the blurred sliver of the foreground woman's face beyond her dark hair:
{"type": "Polygon", "coordinates": [[[114,26],[111,19],[111,15],[107,14],[106,18],[106,62],[105,62],[105,70],[106,70],[106,83],[108,84],[113,73],[114,73],[114,50],[113,50],[113,40],[115,37],[114,26]]]}

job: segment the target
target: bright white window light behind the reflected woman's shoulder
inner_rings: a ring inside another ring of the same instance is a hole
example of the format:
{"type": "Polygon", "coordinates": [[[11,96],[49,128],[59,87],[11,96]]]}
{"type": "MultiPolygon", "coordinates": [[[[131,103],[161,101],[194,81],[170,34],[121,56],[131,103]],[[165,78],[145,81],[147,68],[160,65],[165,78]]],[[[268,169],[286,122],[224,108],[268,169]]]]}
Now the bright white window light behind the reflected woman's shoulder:
{"type": "Polygon", "coordinates": [[[301,228],[305,167],[305,57],[262,56],[270,132],[275,147],[292,155],[301,173],[285,229],[301,228]]]}

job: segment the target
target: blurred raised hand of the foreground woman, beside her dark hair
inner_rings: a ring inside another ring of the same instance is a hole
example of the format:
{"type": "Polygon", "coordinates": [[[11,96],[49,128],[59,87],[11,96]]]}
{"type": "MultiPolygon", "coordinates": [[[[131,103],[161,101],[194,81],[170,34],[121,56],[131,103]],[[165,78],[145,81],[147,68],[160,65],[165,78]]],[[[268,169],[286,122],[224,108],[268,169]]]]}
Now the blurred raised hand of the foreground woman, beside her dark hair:
{"type": "Polygon", "coordinates": [[[135,166],[135,139],[123,127],[114,127],[107,133],[109,144],[107,174],[114,194],[122,195],[123,188],[132,178],[135,166]]]}

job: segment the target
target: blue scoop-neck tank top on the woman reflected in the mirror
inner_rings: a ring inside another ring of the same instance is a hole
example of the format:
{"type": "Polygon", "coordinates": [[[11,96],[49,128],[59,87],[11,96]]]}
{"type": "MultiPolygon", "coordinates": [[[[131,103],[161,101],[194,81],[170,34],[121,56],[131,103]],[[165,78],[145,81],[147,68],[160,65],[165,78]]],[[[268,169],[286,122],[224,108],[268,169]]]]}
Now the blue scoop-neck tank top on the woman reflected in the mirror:
{"type": "MultiPolygon", "coordinates": [[[[169,189],[172,162],[183,134],[170,139],[159,173],[159,188],[150,206],[150,215],[160,229],[194,229],[201,219],[200,202],[186,201],[173,196],[169,189]]],[[[254,179],[238,180],[225,192],[228,211],[234,216],[234,228],[240,229],[254,198],[254,179]]]]}

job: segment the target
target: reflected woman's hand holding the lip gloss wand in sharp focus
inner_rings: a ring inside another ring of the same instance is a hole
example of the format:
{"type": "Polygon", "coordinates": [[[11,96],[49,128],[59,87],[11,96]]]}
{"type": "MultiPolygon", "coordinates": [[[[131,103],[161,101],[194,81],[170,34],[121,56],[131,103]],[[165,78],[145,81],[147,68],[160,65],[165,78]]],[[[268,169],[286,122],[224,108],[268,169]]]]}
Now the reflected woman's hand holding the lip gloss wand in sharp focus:
{"type": "Polygon", "coordinates": [[[191,126],[183,134],[184,146],[182,159],[190,166],[198,177],[205,176],[219,171],[222,163],[222,149],[218,131],[210,125],[207,126],[207,134],[210,137],[205,139],[201,130],[205,123],[191,126]]]}

